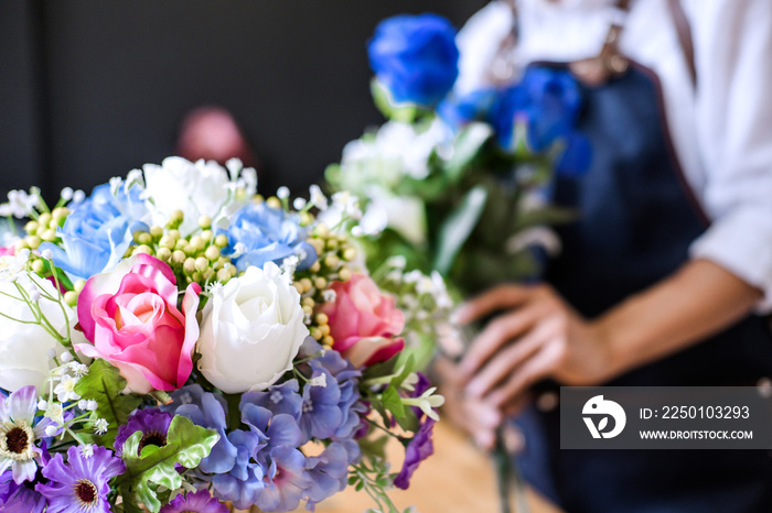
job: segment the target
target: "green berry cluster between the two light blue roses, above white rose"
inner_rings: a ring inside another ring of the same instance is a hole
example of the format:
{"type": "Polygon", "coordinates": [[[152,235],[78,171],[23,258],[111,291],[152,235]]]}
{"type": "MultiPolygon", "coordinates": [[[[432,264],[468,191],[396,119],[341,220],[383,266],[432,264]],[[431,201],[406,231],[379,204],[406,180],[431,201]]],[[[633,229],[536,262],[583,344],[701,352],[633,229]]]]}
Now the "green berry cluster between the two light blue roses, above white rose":
{"type": "Polygon", "coordinates": [[[189,237],[180,234],[183,220],[183,212],[175,210],[165,227],[153,226],[149,231],[135,231],[136,245],[128,249],[126,256],[146,253],[167,262],[180,284],[199,283],[205,286],[215,281],[226,283],[236,276],[236,266],[222,254],[222,250],[228,245],[228,238],[212,231],[212,219],[200,217],[200,230],[189,237]]]}

